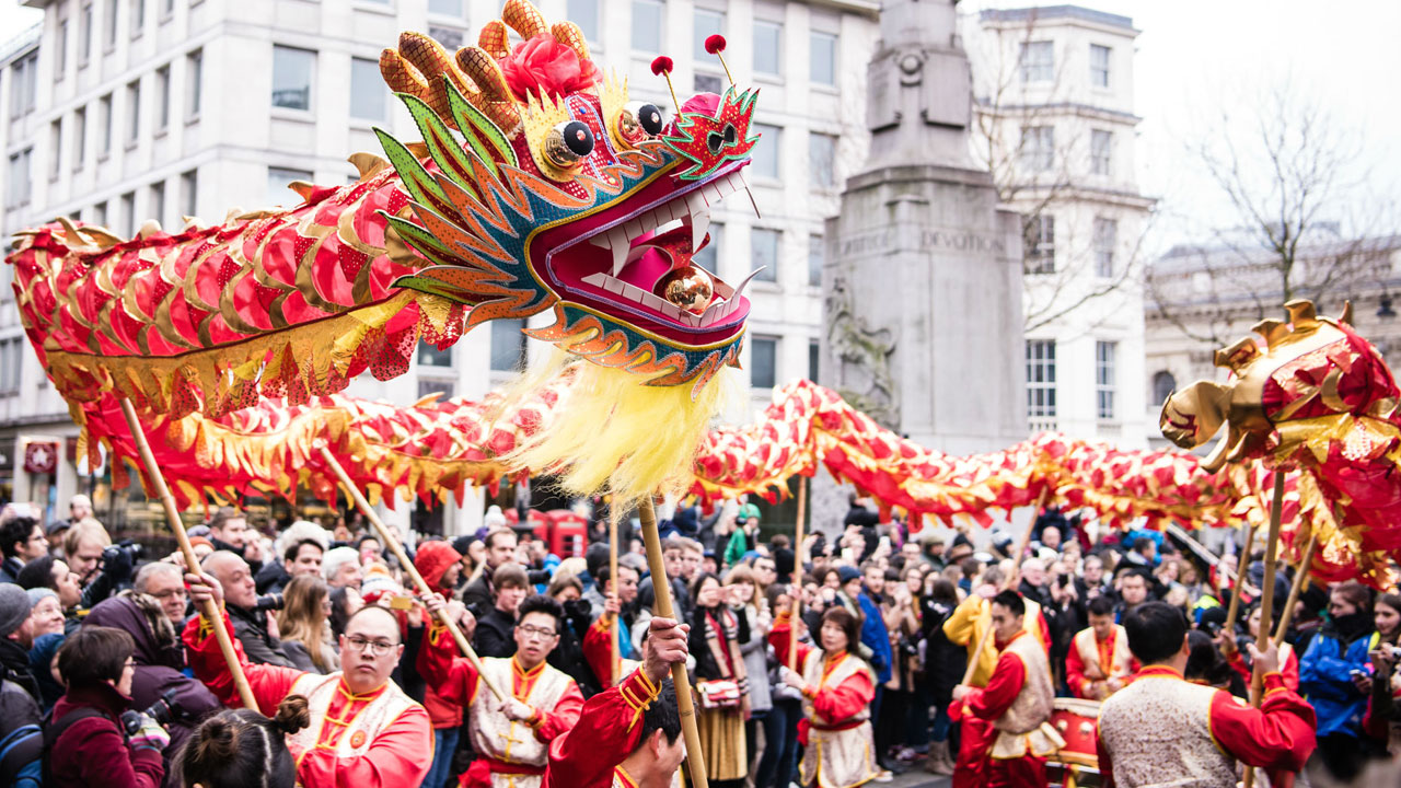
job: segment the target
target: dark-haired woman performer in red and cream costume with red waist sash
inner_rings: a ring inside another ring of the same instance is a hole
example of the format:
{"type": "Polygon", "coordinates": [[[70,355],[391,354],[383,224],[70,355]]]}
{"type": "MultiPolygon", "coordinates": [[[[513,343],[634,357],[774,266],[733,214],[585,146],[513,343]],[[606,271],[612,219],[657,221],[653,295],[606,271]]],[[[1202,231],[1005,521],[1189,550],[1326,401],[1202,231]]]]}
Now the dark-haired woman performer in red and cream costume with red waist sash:
{"type": "MultiPolygon", "coordinates": [[[[789,609],[780,611],[769,631],[779,665],[787,665],[787,652],[794,648],[789,614],[789,609]]],[[[783,681],[803,693],[797,740],[806,749],[799,781],[820,788],[870,782],[881,771],[870,722],[876,676],[864,659],[848,651],[860,645],[860,623],[845,607],[831,607],[822,613],[818,641],[820,649],[797,644],[801,674],[782,669],[783,681]]]]}

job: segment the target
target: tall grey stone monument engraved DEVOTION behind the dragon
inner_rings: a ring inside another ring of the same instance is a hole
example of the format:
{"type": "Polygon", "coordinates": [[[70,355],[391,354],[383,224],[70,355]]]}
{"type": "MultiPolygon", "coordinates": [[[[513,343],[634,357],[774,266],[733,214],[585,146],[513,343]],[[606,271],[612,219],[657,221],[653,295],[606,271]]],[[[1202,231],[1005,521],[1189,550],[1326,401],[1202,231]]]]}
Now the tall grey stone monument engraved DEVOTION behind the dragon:
{"type": "MultiPolygon", "coordinates": [[[[969,153],[954,0],[887,0],[880,32],[870,156],[827,220],[821,383],[923,446],[1000,449],[1027,435],[1021,220],[969,153]]],[[[814,515],[845,510],[832,492],[814,515]]]]}

